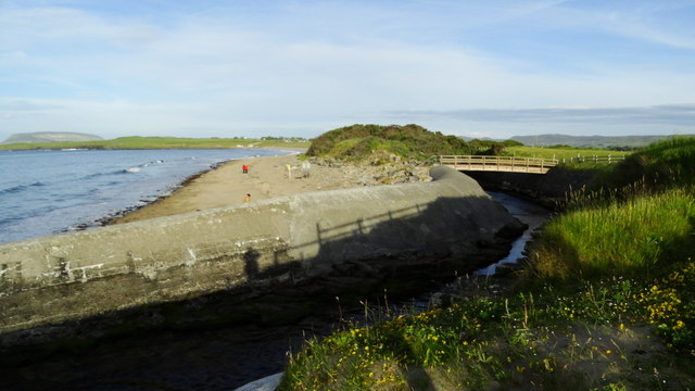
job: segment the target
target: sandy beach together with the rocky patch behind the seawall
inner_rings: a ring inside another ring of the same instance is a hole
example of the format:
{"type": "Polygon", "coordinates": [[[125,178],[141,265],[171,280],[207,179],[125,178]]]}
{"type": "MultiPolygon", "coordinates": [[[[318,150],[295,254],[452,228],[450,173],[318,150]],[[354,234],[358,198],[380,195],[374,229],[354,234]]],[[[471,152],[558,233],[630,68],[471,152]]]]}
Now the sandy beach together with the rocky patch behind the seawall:
{"type": "Polygon", "coordinates": [[[300,151],[276,156],[243,157],[222,163],[195,174],[174,191],[156,200],[105,218],[102,225],[124,224],[216,207],[239,206],[251,194],[250,202],[276,197],[429,180],[429,167],[408,163],[384,165],[345,164],[323,159],[300,160],[300,151]],[[308,169],[302,168],[308,162],[308,169]],[[248,165],[244,174],[242,166],[248,165]],[[287,166],[292,167],[288,175],[287,166]]]}

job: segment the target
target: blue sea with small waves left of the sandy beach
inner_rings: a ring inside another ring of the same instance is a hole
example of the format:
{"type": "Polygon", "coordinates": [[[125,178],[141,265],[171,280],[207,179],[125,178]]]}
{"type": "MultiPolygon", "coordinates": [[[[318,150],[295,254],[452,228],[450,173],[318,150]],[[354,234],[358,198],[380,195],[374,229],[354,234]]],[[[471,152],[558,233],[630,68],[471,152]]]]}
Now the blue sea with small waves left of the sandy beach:
{"type": "Polygon", "coordinates": [[[0,243],[86,229],[267,149],[0,151],[0,243]]]}

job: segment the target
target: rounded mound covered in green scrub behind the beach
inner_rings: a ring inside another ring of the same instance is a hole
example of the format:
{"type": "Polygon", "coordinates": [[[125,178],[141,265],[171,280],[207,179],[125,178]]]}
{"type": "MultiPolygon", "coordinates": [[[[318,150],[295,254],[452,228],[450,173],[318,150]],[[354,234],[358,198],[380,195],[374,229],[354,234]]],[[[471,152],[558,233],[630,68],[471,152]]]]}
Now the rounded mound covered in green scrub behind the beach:
{"type": "Polygon", "coordinates": [[[432,133],[419,125],[351,125],[327,131],[312,141],[309,156],[374,159],[386,154],[422,160],[435,154],[476,151],[457,136],[432,133]]]}

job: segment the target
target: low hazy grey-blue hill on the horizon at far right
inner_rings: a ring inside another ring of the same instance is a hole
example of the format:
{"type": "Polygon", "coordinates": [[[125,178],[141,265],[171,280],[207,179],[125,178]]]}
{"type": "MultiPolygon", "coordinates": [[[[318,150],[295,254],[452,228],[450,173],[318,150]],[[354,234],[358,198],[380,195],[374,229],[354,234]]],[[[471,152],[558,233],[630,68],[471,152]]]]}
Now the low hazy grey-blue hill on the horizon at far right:
{"type": "Polygon", "coordinates": [[[511,140],[525,146],[551,147],[569,146],[574,148],[639,148],[652,142],[669,139],[673,136],[568,136],[568,135],[538,135],[514,136],[511,140]]]}

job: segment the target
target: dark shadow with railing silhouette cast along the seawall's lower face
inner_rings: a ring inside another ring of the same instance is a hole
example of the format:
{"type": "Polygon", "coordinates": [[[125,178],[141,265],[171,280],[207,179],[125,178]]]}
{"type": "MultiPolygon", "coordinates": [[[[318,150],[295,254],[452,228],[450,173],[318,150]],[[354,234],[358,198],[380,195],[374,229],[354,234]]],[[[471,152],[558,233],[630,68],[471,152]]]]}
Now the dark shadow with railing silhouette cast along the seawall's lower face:
{"type": "Polygon", "coordinates": [[[317,222],[317,239],[293,247],[317,245],[313,257],[288,261],[287,249],[247,248],[239,260],[248,279],[243,285],[3,335],[3,341],[20,343],[0,345],[0,364],[11,369],[53,354],[88,354],[97,344],[131,336],[147,340],[148,335],[235,325],[285,327],[336,313],[337,295],[348,310],[382,294],[384,287],[390,295],[413,294],[504,256],[523,227],[491,222],[500,207],[486,197],[440,198],[334,226],[317,222]],[[497,229],[482,235],[480,228],[489,226],[497,229]],[[318,266],[327,267],[325,273],[312,274],[318,266]]]}

